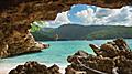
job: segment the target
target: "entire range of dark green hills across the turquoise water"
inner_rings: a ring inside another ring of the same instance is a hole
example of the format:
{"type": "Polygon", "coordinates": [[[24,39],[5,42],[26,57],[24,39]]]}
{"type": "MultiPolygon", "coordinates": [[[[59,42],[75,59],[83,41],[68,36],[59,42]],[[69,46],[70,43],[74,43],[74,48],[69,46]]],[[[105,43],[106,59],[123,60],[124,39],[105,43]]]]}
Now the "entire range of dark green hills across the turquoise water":
{"type": "Polygon", "coordinates": [[[131,39],[132,27],[64,24],[56,29],[43,28],[33,33],[36,40],[55,40],[56,34],[58,40],[131,39]]]}

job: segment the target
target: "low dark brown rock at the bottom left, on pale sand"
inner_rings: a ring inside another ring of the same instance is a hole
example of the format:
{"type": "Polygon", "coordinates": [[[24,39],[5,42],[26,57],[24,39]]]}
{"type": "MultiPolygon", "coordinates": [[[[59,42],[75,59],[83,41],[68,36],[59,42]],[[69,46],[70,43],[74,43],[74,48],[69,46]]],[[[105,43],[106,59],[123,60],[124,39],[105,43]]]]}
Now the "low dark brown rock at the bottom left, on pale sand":
{"type": "Polygon", "coordinates": [[[51,67],[47,67],[33,61],[26,62],[24,65],[18,65],[15,68],[11,70],[9,74],[61,74],[61,73],[59,67],[55,64],[51,67]]]}

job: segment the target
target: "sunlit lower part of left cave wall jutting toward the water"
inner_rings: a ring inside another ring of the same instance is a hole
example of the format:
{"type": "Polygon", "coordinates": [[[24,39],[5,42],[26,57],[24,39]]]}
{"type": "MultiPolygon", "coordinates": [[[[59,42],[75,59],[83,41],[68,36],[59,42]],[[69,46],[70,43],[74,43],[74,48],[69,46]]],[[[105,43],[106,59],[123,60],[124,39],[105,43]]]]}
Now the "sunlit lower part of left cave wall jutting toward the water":
{"type": "Polygon", "coordinates": [[[13,31],[11,35],[3,40],[3,42],[1,43],[2,46],[0,47],[0,57],[29,52],[38,52],[42,49],[48,47],[46,44],[35,42],[30,32],[21,33],[19,31],[13,31]],[[37,44],[40,44],[40,46],[37,46],[37,44]]]}

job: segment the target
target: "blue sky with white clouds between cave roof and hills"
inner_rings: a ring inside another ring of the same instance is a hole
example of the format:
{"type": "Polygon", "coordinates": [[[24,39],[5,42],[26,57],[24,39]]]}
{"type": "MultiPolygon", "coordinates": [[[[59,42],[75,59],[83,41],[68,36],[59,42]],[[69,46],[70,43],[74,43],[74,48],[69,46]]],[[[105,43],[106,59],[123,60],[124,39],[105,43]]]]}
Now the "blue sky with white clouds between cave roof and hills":
{"type": "Polygon", "coordinates": [[[100,8],[88,4],[74,4],[70,10],[58,13],[47,27],[57,28],[67,23],[81,25],[132,25],[132,7],[121,9],[100,8]]]}

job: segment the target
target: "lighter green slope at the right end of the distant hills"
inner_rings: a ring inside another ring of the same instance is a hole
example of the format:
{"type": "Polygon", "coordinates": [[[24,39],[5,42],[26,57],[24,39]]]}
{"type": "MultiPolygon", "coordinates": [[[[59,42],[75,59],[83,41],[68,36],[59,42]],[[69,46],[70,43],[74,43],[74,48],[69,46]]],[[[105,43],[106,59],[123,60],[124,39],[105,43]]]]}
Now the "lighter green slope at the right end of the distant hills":
{"type": "Polygon", "coordinates": [[[89,33],[87,39],[114,39],[114,38],[132,38],[132,28],[127,27],[107,27],[106,29],[89,33]]]}

